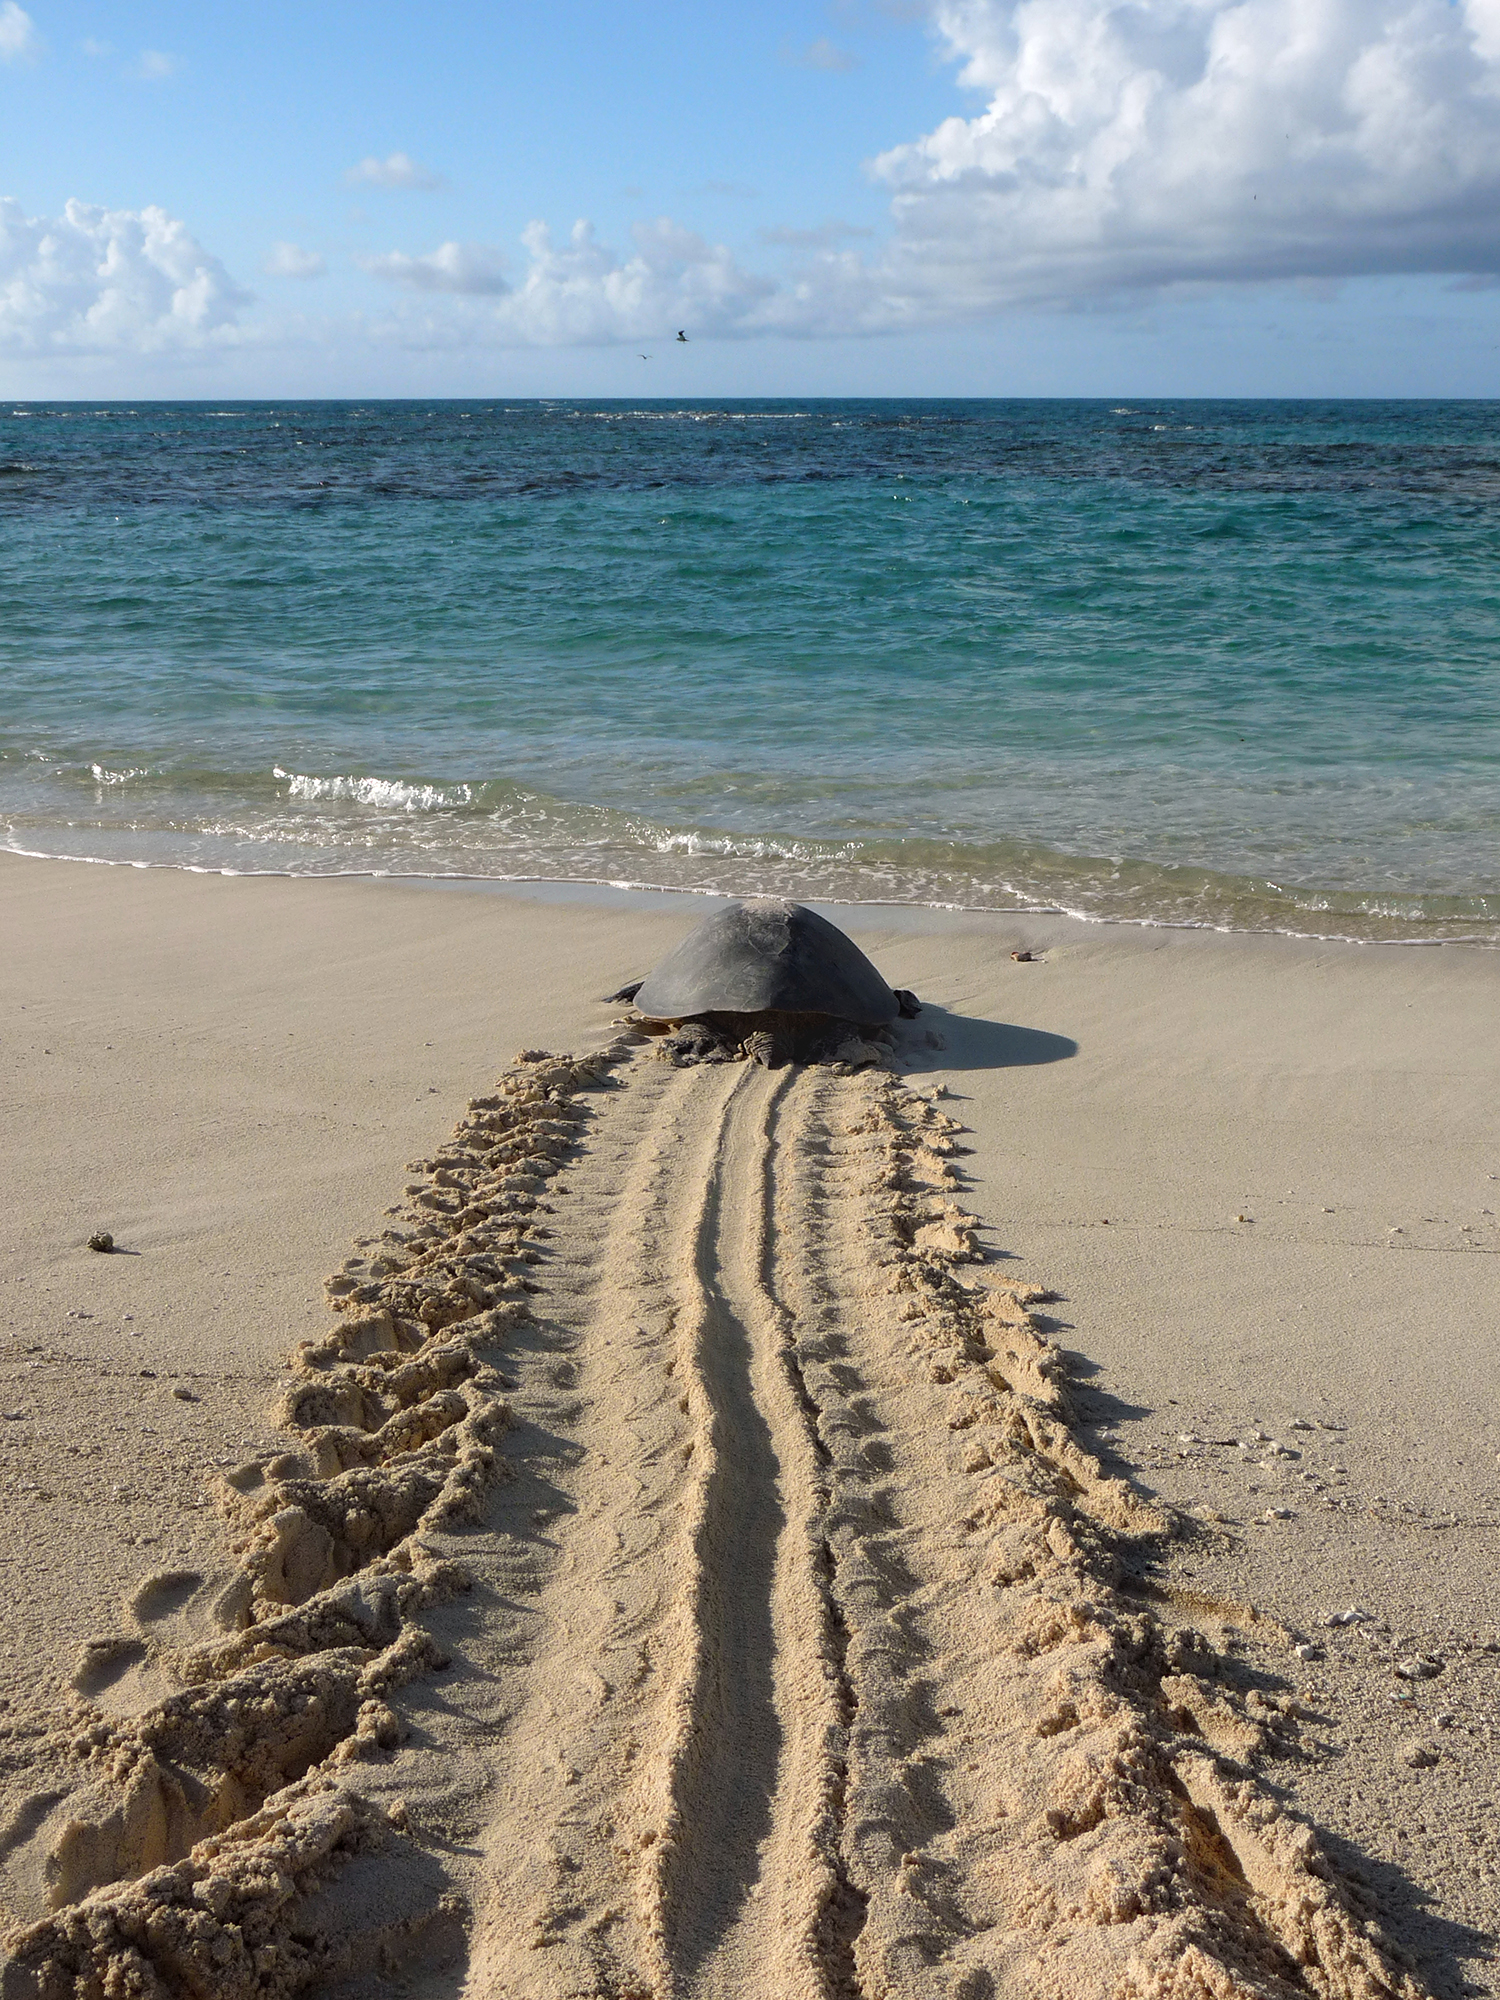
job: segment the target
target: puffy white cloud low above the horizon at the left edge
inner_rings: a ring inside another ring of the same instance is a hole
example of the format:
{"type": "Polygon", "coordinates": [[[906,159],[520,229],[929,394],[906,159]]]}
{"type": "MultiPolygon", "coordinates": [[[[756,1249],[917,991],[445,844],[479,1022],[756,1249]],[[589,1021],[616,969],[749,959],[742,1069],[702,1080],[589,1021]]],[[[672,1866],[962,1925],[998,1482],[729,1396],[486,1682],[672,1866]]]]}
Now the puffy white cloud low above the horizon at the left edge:
{"type": "Polygon", "coordinates": [[[248,304],[216,256],[162,208],[28,216],[0,198],[0,352],[200,348],[248,304]]]}

